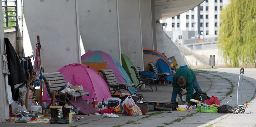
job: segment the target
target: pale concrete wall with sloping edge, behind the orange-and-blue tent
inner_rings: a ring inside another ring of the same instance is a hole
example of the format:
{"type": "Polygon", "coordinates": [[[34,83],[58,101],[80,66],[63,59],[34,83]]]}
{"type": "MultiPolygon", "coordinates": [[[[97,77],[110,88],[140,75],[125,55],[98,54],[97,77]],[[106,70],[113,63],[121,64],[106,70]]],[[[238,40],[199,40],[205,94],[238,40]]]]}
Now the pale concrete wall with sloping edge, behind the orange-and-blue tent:
{"type": "Polygon", "coordinates": [[[164,53],[167,58],[172,56],[175,57],[178,68],[179,66],[184,66],[189,64],[186,62],[185,57],[182,55],[181,51],[176,47],[176,45],[170,40],[167,34],[162,30],[162,24],[156,24],[157,32],[157,47],[160,53],[164,53]]]}

